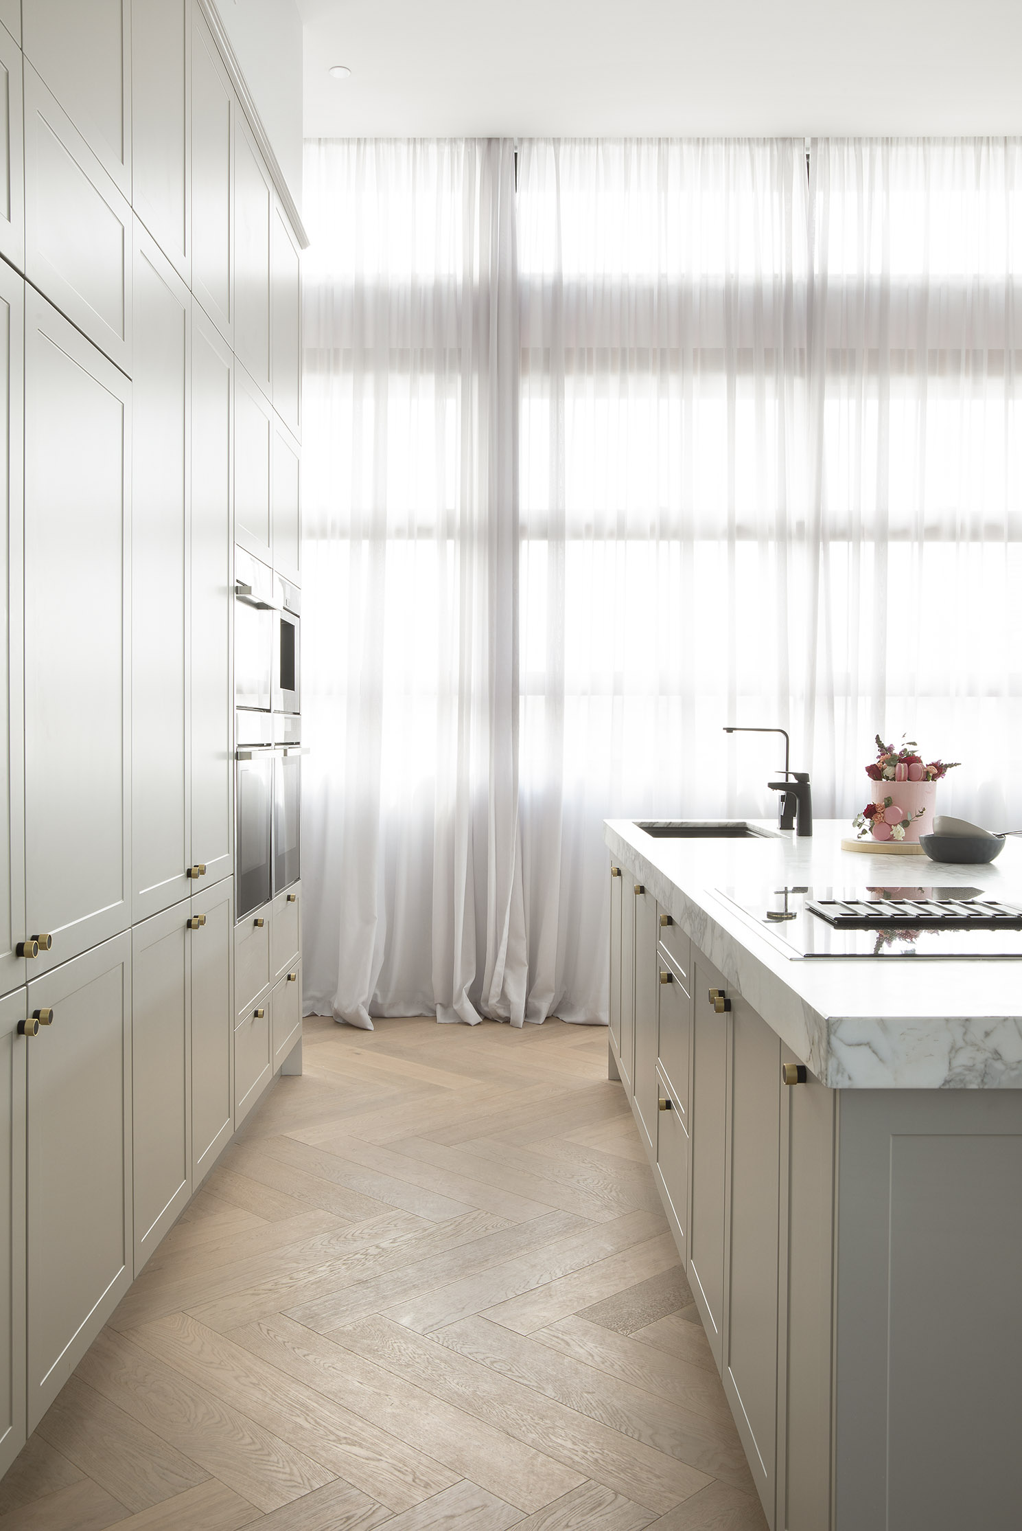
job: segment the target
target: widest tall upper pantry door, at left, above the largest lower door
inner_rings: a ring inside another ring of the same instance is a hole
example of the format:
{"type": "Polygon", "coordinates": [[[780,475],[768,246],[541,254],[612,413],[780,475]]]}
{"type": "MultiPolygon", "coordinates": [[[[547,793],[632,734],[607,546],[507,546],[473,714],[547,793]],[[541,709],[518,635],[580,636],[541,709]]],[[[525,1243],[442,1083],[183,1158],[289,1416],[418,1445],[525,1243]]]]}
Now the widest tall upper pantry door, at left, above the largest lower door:
{"type": "Polygon", "coordinates": [[[26,289],[26,925],[52,935],[34,971],[132,923],[130,393],[26,289]]]}

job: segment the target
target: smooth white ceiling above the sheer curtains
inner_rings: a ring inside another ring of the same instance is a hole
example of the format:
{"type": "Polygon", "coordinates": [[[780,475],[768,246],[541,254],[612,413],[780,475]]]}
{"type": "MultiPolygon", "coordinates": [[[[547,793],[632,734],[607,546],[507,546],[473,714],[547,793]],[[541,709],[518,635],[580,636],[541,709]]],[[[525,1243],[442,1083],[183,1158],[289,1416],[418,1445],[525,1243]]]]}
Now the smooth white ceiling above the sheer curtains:
{"type": "Polygon", "coordinates": [[[1022,133],[1020,0],[298,8],[306,136],[1022,133]]]}

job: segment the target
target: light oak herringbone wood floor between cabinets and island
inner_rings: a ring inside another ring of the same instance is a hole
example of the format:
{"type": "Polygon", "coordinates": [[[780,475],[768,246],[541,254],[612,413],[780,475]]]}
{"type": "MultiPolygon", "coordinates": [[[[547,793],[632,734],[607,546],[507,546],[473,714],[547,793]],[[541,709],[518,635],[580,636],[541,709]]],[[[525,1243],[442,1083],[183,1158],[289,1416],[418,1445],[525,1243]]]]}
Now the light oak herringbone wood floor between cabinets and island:
{"type": "Polygon", "coordinates": [[[304,1023],[0,1531],[762,1531],[603,1029],[304,1023]]]}

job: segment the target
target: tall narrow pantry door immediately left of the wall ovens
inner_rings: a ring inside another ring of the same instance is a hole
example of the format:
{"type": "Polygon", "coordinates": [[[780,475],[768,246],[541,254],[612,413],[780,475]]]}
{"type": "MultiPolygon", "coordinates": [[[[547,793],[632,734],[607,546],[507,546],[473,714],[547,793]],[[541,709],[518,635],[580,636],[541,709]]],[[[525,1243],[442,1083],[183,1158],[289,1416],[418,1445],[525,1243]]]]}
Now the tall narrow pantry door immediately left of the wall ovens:
{"type": "Polygon", "coordinates": [[[191,309],[191,859],[208,886],[233,870],[233,357],[191,309]]]}

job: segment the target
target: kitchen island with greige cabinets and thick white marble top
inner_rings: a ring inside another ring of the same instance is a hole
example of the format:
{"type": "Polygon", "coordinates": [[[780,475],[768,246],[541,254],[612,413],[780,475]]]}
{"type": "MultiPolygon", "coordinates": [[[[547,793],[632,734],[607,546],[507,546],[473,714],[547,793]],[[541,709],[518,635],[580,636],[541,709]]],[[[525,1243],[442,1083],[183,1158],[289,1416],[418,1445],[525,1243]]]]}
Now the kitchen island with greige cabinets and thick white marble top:
{"type": "Polygon", "coordinates": [[[766,1519],[1017,1528],[1022,957],[886,939],[884,955],[802,957],[756,909],[783,888],[1022,903],[1022,842],[936,867],[843,851],[843,822],[802,841],[754,827],[604,833],[610,1075],[766,1519]]]}

